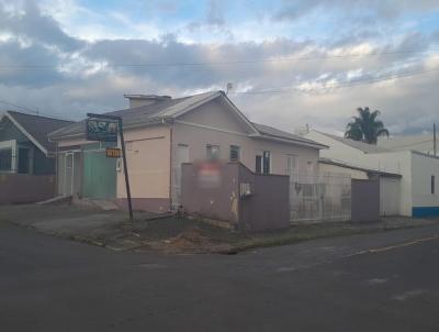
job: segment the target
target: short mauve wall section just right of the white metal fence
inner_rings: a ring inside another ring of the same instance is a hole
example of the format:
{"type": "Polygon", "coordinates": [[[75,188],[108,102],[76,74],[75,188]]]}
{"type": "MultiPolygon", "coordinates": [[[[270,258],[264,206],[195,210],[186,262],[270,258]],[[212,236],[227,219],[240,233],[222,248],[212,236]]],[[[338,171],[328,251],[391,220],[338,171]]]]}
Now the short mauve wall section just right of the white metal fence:
{"type": "Polygon", "coordinates": [[[352,179],[351,219],[353,222],[380,220],[380,181],[352,179]]]}

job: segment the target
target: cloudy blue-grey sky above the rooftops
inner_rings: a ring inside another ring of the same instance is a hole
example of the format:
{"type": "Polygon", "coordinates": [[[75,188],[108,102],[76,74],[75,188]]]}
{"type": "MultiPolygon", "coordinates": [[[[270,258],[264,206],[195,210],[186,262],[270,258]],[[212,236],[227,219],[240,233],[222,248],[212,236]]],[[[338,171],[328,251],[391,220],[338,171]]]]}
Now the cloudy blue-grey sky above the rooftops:
{"type": "Polygon", "coordinates": [[[69,119],[234,86],[254,121],[392,133],[439,122],[438,0],[0,0],[0,110],[69,119]]]}

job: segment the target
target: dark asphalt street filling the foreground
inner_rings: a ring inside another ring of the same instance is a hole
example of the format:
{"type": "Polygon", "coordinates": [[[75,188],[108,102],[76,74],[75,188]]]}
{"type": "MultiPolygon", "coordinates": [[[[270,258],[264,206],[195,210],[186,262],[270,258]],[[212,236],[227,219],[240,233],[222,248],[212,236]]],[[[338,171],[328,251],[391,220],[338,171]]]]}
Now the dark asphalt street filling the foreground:
{"type": "Polygon", "coordinates": [[[439,331],[438,236],[164,256],[0,225],[0,330],[439,331]]]}

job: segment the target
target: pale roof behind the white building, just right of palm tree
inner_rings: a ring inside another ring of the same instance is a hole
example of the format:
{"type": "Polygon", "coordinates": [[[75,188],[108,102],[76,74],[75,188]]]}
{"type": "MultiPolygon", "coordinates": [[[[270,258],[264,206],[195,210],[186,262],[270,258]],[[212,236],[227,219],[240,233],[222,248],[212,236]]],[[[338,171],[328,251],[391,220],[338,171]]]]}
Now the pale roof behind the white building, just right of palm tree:
{"type": "Polygon", "coordinates": [[[435,154],[434,135],[407,135],[407,136],[381,136],[376,145],[381,148],[391,148],[393,151],[413,150],[428,155],[435,154]]]}

